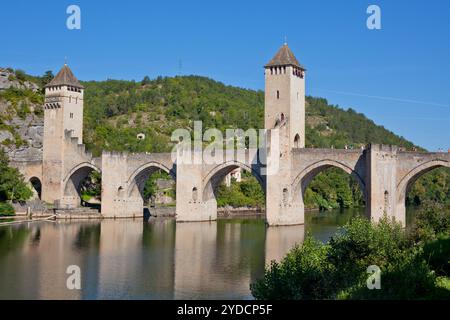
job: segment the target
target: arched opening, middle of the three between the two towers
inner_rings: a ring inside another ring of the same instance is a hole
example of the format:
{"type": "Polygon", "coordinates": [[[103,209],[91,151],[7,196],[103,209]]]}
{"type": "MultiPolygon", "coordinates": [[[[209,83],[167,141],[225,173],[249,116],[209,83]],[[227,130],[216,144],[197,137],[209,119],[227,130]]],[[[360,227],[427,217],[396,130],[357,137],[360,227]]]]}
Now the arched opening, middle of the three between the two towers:
{"type": "Polygon", "coordinates": [[[145,216],[157,216],[163,211],[175,212],[175,173],[157,163],[146,164],[130,178],[129,198],[136,205],[136,212],[145,216]]]}

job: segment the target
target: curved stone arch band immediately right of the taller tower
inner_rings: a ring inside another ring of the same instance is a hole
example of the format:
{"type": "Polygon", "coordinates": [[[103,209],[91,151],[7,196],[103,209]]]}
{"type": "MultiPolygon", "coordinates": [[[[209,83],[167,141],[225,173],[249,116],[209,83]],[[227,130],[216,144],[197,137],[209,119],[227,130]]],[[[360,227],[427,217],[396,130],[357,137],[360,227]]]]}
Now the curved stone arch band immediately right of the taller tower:
{"type": "Polygon", "coordinates": [[[348,165],[330,159],[317,161],[306,167],[302,172],[300,172],[292,183],[292,190],[294,190],[294,195],[296,197],[300,195],[303,201],[303,197],[305,195],[305,191],[309,183],[314,179],[315,176],[317,176],[319,173],[329,168],[339,168],[344,172],[348,173],[349,175],[351,175],[358,182],[358,185],[367,203],[366,184],[364,182],[364,179],[360,176],[360,174],[353,168],[349,167],[348,165]]]}

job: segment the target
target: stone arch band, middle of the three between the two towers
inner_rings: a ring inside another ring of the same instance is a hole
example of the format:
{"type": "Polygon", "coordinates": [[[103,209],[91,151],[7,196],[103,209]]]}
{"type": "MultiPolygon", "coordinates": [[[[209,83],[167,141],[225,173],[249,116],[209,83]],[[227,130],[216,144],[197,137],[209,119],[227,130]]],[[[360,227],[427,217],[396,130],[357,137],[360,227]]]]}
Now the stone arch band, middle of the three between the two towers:
{"type": "Polygon", "coordinates": [[[147,179],[156,171],[161,170],[168,173],[174,181],[176,181],[176,173],[173,169],[168,168],[162,163],[151,161],[140,166],[131,174],[127,181],[127,195],[131,196],[143,196],[144,186],[147,179]]]}

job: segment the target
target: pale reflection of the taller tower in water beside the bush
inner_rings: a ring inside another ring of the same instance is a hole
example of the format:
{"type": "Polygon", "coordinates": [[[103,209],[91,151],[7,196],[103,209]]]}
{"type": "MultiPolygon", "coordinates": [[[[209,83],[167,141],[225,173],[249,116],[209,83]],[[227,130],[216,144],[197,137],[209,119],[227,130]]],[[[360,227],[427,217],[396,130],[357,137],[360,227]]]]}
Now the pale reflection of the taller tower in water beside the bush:
{"type": "Polygon", "coordinates": [[[266,230],[266,265],[282,258],[305,239],[305,225],[270,227],[266,230]]]}

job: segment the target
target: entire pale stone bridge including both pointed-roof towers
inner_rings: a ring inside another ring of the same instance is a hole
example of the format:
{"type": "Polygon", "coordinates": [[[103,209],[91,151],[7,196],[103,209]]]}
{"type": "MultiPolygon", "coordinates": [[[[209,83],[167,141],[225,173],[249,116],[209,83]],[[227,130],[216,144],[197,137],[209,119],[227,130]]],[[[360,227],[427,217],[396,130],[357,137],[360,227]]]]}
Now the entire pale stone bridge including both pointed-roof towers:
{"type": "Polygon", "coordinates": [[[80,206],[81,182],[89,173],[101,172],[101,214],[111,218],[142,216],[144,183],[153,172],[163,170],[176,181],[177,221],[215,220],[217,186],[232,170],[242,168],[265,192],[269,225],[304,223],[305,190],[317,174],[331,167],[358,182],[368,217],[378,221],[387,215],[405,224],[411,185],[430,170],[450,167],[449,153],[405,152],[376,144],[357,150],[305,148],[306,69],[287,44],[264,68],[267,141],[262,149],[207,157],[190,148],[190,152],[178,149],[174,156],[103,152],[93,158],[82,144],[84,88],[65,65],[46,86],[43,160],[13,165],[27,181],[41,185],[42,200],[68,209],[80,206]]]}

